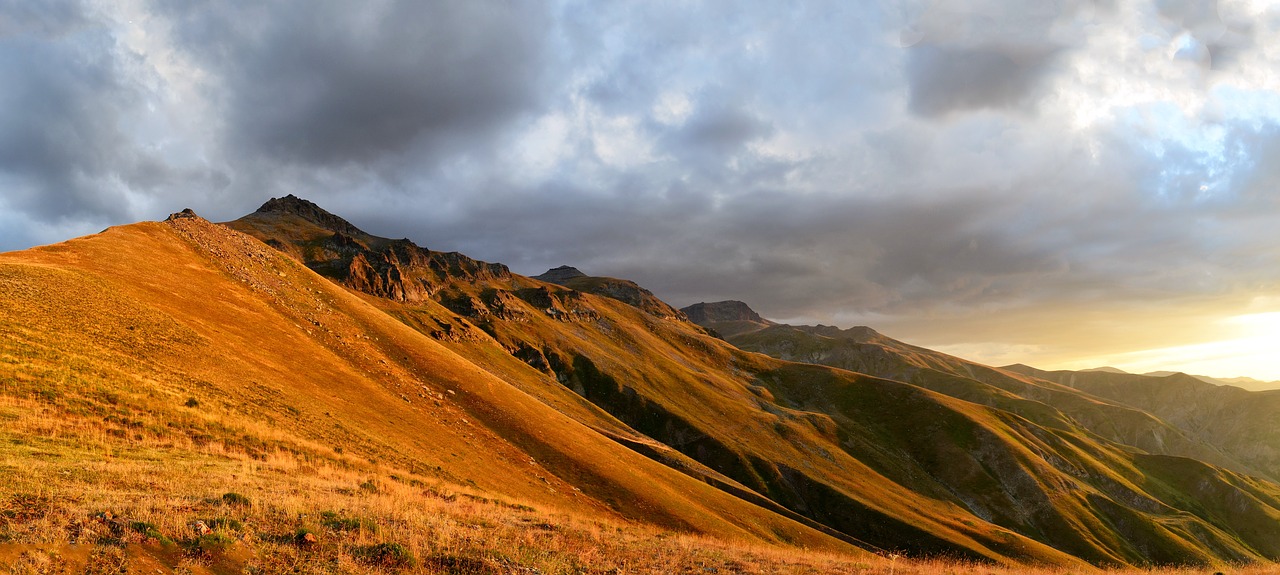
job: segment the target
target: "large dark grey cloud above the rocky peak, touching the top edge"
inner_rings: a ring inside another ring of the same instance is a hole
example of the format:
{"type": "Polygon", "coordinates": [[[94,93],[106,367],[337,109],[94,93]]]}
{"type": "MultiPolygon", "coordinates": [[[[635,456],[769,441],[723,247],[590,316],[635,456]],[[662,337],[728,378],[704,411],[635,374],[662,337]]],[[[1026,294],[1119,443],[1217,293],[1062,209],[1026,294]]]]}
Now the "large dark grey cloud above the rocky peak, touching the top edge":
{"type": "Polygon", "coordinates": [[[489,143],[540,99],[548,14],[531,3],[165,5],[207,70],[228,146],[282,163],[415,163],[489,143]]]}

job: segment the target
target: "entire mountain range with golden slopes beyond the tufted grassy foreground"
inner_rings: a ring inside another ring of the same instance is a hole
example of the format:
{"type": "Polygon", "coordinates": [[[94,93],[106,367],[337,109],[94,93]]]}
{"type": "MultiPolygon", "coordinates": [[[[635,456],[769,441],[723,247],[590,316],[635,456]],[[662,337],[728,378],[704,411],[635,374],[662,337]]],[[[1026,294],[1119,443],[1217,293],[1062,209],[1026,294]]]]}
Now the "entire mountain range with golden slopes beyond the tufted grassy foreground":
{"type": "Polygon", "coordinates": [[[991,368],[744,302],[676,310],[293,196],[4,254],[0,280],[4,389],[68,425],[177,420],[191,398],[237,429],[191,432],[206,443],[340,449],[493,497],[845,553],[1280,558],[1280,392],[991,368]]]}

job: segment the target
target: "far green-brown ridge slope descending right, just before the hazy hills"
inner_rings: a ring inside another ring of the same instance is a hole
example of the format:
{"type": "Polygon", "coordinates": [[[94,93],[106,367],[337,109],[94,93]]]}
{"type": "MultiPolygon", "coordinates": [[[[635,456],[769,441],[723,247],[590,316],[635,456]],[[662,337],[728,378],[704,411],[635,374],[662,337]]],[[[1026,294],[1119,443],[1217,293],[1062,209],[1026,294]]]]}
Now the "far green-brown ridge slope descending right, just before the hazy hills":
{"type": "MultiPolygon", "coordinates": [[[[696,306],[686,307],[685,312],[691,318],[701,318],[696,306]]],[[[708,319],[704,327],[719,332],[724,328],[724,323],[728,323],[728,329],[724,332],[731,336],[727,336],[727,339],[742,350],[910,382],[938,393],[1016,414],[1043,429],[1069,432],[1082,438],[1082,443],[1089,444],[1089,447],[1082,446],[1087,452],[1102,452],[1106,449],[1103,446],[1111,446],[1129,453],[1123,457],[1129,460],[1129,465],[1140,469],[1138,475],[1140,479],[1137,479],[1137,483],[1144,487],[1167,487],[1181,474],[1206,476],[1194,469],[1204,465],[1199,461],[1212,461],[1219,466],[1236,470],[1233,474],[1219,469],[1207,475],[1225,479],[1212,482],[1216,483],[1213,490],[1234,492],[1239,497],[1253,499],[1252,494],[1240,493],[1238,482],[1261,485],[1267,492],[1275,489],[1267,480],[1251,478],[1249,475],[1257,475],[1258,471],[1217,443],[1204,441],[1143,409],[1106,400],[1102,394],[1083,393],[1059,383],[910,346],[869,328],[794,327],[750,319],[755,327],[740,329],[744,321],[741,314],[742,311],[737,310],[731,318],[719,321],[708,319]],[[1165,464],[1152,466],[1155,461],[1175,464],[1170,467],[1165,467],[1165,464]],[[1172,471],[1179,466],[1187,469],[1172,471]],[[1171,471],[1169,478],[1155,476],[1171,471]]],[[[1047,460],[1052,461],[1052,457],[1047,460]]],[[[1097,478],[1096,473],[1083,475],[1097,478]]],[[[1244,489],[1248,492],[1252,487],[1244,489]]],[[[1215,511],[1198,510],[1202,505],[1198,501],[1206,498],[1203,492],[1193,494],[1176,488],[1164,496],[1151,492],[1146,494],[1171,508],[1188,511],[1220,525],[1235,521],[1252,524],[1257,519],[1257,516],[1245,519],[1247,514],[1238,514],[1229,507],[1215,511]]],[[[1119,499],[1132,501],[1129,497],[1119,499]]],[[[1272,505],[1267,507],[1271,510],[1261,516],[1275,516],[1275,507],[1272,505]]]]}

